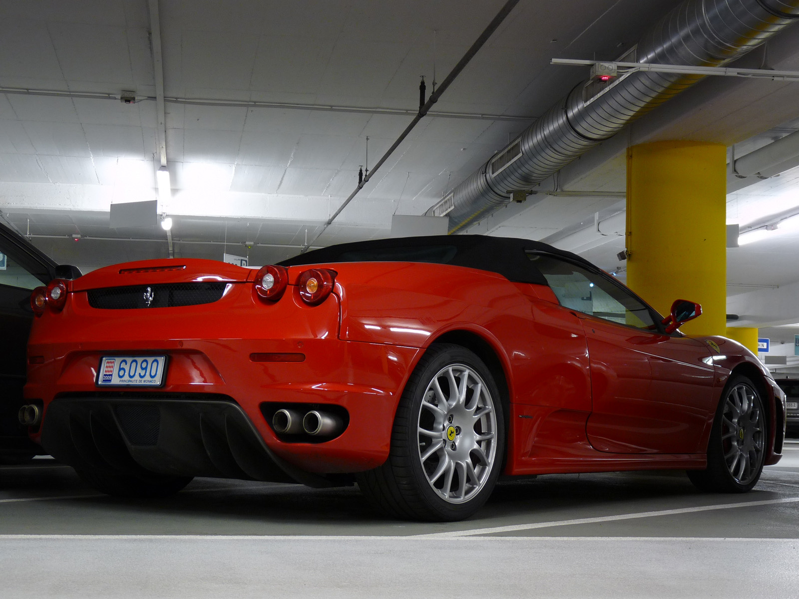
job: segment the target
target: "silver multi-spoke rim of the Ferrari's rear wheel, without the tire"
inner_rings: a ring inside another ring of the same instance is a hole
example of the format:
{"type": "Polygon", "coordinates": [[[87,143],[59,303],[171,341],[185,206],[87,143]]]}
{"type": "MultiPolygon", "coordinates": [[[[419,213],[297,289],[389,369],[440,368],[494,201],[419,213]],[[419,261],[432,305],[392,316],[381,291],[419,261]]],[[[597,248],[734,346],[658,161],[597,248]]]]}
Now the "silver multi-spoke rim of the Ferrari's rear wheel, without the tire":
{"type": "Polygon", "coordinates": [[[431,488],[449,503],[469,501],[485,486],[497,456],[494,398],[465,364],[450,364],[424,391],[419,460],[431,488]]]}

